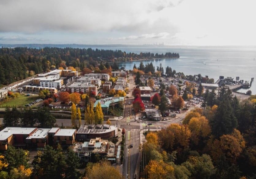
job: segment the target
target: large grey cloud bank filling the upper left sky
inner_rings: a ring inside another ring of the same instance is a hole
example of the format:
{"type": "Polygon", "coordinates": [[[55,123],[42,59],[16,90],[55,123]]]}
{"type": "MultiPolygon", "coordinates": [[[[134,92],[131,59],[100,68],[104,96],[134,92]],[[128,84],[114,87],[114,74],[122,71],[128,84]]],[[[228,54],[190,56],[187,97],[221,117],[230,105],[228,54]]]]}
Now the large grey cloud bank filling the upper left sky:
{"type": "Polygon", "coordinates": [[[18,0],[0,2],[0,32],[135,31],[150,27],[158,11],[180,0],[18,0]],[[154,16],[154,17],[152,17],[154,16]],[[134,28],[136,27],[136,29],[134,28]]]}

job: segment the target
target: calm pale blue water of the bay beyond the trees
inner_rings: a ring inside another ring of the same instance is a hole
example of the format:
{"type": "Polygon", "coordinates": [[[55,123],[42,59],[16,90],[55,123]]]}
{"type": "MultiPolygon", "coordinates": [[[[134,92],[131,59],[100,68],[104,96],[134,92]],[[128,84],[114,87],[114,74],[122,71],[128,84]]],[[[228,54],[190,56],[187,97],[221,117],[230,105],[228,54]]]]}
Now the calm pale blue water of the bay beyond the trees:
{"type": "MultiPolygon", "coordinates": [[[[256,80],[256,48],[120,48],[120,50],[134,53],[177,52],[180,55],[179,59],[155,59],[143,63],[152,62],[155,68],[162,63],[164,68],[169,66],[185,75],[199,73],[202,76],[208,75],[209,78],[214,78],[215,82],[219,76],[234,79],[239,76],[244,81],[250,81],[254,77],[256,80]]],[[[140,61],[119,63],[119,67],[132,70],[134,63],[138,67],[140,61]]],[[[247,90],[241,89],[239,92],[245,93],[247,90]]],[[[256,81],[252,83],[250,90],[256,94],[256,81]]]]}

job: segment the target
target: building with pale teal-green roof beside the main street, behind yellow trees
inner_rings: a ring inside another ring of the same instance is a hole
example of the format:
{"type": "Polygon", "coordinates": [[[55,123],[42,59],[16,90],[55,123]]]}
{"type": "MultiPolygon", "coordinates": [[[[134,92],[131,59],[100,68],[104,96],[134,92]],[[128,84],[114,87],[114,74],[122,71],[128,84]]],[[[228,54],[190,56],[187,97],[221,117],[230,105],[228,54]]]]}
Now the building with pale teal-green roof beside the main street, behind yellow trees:
{"type": "Polygon", "coordinates": [[[105,99],[99,99],[95,101],[94,108],[98,103],[101,104],[102,112],[104,114],[108,114],[109,107],[120,104],[120,103],[124,105],[124,97],[108,97],[105,99]]]}

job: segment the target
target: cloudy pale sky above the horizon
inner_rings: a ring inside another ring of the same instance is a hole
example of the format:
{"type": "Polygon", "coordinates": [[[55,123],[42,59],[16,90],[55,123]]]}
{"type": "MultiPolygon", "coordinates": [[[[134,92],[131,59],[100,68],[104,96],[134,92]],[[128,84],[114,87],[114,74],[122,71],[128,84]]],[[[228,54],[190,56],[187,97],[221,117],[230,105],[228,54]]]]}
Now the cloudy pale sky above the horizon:
{"type": "Polygon", "coordinates": [[[255,0],[2,0],[1,44],[256,45],[255,0]]]}

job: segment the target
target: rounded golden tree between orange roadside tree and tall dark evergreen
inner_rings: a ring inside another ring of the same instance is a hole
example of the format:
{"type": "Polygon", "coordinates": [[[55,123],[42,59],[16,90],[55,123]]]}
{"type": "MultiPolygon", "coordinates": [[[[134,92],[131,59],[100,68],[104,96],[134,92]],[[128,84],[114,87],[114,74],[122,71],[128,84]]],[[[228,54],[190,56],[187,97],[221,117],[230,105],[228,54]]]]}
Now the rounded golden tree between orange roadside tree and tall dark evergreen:
{"type": "Polygon", "coordinates": [[[188,124],[191,131],[191,140],[196,145],[201,137],[205,138],[211,133],[211,127],[208,120],[204,117],[192,117],[188,124]]]}

